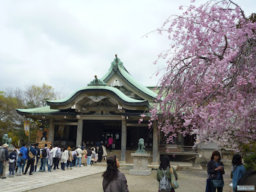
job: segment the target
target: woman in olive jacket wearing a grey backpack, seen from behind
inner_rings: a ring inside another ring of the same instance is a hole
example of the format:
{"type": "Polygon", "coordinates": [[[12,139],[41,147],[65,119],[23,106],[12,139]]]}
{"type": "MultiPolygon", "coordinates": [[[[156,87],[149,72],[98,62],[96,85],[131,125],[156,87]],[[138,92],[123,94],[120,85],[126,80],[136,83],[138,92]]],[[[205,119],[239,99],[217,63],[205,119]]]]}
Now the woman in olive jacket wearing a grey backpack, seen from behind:
{"type": "MultiPolygon", "coordinates": [[[[163,191],[162,189],[162,186],[161,186],[161,180],[162,179],[168,179],[168,186],[170,187],[169,191],[166,191],[166,192],[173,192],[175,191],[171,186],[171,180],[172,180],[172,173],[171,173],[171,169],[173,170],[173,174],[175,176],[175,179],[177,180],[178,179],[178,175],[177,175],[177,172],[175,170],[175,168],[173,168],[172,166],[170,166],[170,159],[168,156],[163,156],[162,159],[161,159],[161,163],[159,165],[159,168],[157,169],[157,175],[156,175],[156,179],[157,181],[159,182],[159,192],[160,191],[163,191]],[[165,178],[164,178],[165,176],[165,178]]],[[[167,186],[167,189],[168,189],[168,186],[167,186]]],[[[163,186],[164,188],[164,186],[163,186]]]]}

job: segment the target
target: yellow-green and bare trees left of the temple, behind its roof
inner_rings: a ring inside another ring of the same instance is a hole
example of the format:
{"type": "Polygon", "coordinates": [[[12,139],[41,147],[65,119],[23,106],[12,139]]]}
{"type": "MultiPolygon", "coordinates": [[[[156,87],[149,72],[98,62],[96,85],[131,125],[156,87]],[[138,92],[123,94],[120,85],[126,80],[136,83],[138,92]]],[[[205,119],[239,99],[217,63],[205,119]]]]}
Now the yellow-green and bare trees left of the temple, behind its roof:
{"type": "MultiPolygon", "coordinates": [[[[45,100],[56,99],[54,88],[47,84],[42,86],[30,85],[25,91],[20,88],[0,91],[0,138],[4,133],[12,137],[12,144],[17,145],[19,140],[28,141],[24,134],[24,116],[19,115],[16,109],[40,108],[46,106],[45,100]]],[[[36,139],[36,132],[41,122],[30,119],[30,140],[36,139]]]]}

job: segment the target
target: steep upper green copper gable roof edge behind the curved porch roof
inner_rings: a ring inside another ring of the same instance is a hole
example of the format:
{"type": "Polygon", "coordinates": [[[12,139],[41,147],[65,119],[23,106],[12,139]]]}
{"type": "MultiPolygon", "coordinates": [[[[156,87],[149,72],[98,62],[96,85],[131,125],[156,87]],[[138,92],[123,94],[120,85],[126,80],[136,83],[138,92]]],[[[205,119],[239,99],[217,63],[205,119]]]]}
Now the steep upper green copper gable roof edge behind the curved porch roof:
{"type": "MultiPolygon", "coordinates": [[[[134,79],[129,72],[125,69],[123,63],[120,61],[119,58],[116,58],[112,63],[111,63],[111,67],[109,68],[108,72],[101,78],[102,81],[105,81],[107,79],[107,77],[111,74],[111,72],[114,70],[116,71],[118,68],[118,70],[120,71],[120,73],[122,74],[122,76],[127,79],[127,81],[129,81],[129,83],[131,83],[133,86],[135,86],[136,88],[138,88],[139,90],[141,90],[141,92],[146,93],[147,95],[149,95],[150,97],[157,97],[157,93],[152,92],[152,90],[148,89],[146,86],[144,86],[143,84],[139,83],[138,81],[136,81],[136,79],[134,79]]],[[[113,72],[114,74],[115,72],[113,72]]]]}

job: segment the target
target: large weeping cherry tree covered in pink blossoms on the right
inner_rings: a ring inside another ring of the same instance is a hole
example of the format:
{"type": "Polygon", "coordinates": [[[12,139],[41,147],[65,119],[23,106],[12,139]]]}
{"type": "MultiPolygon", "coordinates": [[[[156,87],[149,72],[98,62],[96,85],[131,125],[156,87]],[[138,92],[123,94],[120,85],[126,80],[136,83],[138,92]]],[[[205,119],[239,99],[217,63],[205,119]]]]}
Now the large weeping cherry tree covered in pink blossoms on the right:
{"type": "Polygon", "coordinates": [[[256,22],[233,1],[180,9],[157,29],[171,47],[149,125],[239,150],[256,140],[256,22]]]}

